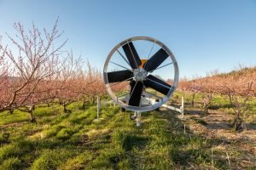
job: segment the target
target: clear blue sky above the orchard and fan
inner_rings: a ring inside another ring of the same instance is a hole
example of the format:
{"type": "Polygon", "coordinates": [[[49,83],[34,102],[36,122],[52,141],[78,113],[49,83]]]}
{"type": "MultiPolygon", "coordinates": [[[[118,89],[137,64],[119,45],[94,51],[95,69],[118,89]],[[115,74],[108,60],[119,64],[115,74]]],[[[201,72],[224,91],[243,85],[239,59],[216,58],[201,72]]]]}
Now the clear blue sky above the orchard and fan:
{"type": "Polygon", "coordinates": [[[0,35],[14,35],[14,22],[59,29],[73,48],[102,69],[110,50],[128,37],[164,42],[175,55],[180,77],[205,76],[256,65],[255,0],[0,0],[0,35]]]}

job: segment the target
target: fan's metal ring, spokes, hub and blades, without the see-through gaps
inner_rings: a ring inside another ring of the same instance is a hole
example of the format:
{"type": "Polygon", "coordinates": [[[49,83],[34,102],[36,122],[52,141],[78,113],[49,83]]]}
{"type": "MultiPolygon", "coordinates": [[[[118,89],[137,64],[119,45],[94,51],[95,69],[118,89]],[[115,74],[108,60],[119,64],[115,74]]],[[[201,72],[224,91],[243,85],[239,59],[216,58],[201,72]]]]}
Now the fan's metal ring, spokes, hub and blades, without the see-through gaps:
{"type": "Polygon", "coordinates": [[[165,104],[177,88],[178,66],[172,51],[167,48],[164,43],[152,37],[131,37],[117,44],[108,54],[108,58],[104,65],[103,78],[108,94],[113,99],[113,102],[125,108],[125,110],[152,111],[165,104]],[[153,44],[158,45],[160,49],[152,56],[148,56],[148,59],[141,59],[133,44],[133,42],[136,41],[152,42],[153,44]],[[120,53],[120,49],[124,51],[125,55],[120,53]],[[125,59],[125,61],[131,66],[131,69],[129,68],[123,71],[108,71],[108,64],[114,53],[119,53],[120,57],[125,59]],[[168,58],[172,61],[169,65],[173,65],[174,71],[172,85],[160,80],[158,77],[154,77],[152,74],[155,70],[163,67],[160,65],[168,58]],[[124,81],[130,81],[131,86],[130,95],[125,96],[125,99],[117,97],[111,88],[111,83],[124,81]],[[147,94],[144,91],[144,88],[153,88],[165,96],[159,99],[158,102],[155,102],[153,99],[150,99],[151,94],[147,94]],[[142,102],[147,99],[149,100],[150,105],[141,105],[142,102]]]}

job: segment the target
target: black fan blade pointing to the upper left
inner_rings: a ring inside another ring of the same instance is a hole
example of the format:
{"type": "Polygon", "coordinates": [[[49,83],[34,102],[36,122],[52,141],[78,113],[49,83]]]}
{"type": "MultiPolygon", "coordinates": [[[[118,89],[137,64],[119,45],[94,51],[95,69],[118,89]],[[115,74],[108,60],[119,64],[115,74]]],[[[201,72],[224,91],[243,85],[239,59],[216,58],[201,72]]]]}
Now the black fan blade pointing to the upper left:
{"type": "Polygon", "coordinates": [[[132,69],[137,69],[139,65],[142,65],[142,61],[132,42],[126,43],[122,48],[125,51],[125,55],[129,60],[132,69]]]}

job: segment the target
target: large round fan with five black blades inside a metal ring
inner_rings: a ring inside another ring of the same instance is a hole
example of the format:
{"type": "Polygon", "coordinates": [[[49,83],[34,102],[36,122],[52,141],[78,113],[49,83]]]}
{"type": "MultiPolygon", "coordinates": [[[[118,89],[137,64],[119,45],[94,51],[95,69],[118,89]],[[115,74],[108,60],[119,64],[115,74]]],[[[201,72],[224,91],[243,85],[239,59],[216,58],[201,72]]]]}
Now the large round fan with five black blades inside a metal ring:
{"type": "Polygon", "coordinates": [[[131,37],[108,54],[103,77],[108,94],[122,108],[152,111],[164,105],[177,88],[177,61],[162,42],[131,37]]]}

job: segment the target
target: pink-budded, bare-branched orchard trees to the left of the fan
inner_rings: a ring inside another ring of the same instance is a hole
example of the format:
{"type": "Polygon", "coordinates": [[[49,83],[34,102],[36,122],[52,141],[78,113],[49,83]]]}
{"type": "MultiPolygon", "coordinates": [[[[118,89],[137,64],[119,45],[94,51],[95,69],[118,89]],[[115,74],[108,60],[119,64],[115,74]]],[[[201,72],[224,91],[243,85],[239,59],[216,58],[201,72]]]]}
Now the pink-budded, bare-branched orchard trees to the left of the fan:
{"type": "Polygon", "coordinates": [[[15,37],[9,37],[11,48],[0,44],[0,112],[15,109],[30,114],[35,105],[58,102],[67,112],[67,105],[81,99],[87,102],[104,94],[102,74],[89,62],[63,50],[67,40],[60,42],[63,31],[58,20],[50,31],[37,26],[26,31],[15,23],[15,37]]]}

